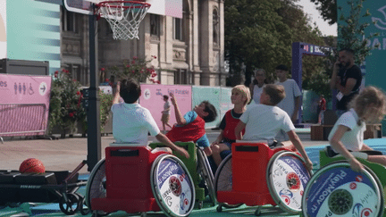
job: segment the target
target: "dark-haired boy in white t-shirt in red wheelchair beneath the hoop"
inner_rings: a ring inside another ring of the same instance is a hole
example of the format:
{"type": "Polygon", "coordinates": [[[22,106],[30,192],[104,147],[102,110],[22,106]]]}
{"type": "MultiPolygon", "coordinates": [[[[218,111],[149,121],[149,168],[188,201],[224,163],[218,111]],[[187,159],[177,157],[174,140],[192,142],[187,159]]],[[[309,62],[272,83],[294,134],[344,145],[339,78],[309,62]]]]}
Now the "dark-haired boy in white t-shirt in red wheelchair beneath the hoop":
{"type": "MultiPolygon", "coordinates": [[[[117,91],[113,98],[113,138],[116,143],[132,144],[132,146],[147,146],[147,133],[162,142],[165,146],[172,148],[177,153],[189,158],[188,152],[174,145],[169,138],[160,132],[155,120],[147,108],[138,104],[141,89],[134,79],[123,79],[117,85],[117,91]],[[124,103],[120,103],[120,97],[124,103]]],[[[147,146],[148,147],[148,146],[147,146]]],[[[167,151],[172,153],[172,150],[167,151]]],[[[164,150],[164,149],[156,149],[164,150]]]]}

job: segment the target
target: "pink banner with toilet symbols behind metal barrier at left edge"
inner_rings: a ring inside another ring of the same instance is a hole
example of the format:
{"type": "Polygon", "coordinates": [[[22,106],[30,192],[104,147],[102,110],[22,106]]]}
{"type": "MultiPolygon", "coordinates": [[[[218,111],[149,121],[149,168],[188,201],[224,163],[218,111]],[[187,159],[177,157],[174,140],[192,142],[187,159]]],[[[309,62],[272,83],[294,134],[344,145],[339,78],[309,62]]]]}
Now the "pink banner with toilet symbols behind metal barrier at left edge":
{"type": "Polygon", "coordinates": [[[0,137],[44,135],[50,76],[0,74],[0,137]]]}

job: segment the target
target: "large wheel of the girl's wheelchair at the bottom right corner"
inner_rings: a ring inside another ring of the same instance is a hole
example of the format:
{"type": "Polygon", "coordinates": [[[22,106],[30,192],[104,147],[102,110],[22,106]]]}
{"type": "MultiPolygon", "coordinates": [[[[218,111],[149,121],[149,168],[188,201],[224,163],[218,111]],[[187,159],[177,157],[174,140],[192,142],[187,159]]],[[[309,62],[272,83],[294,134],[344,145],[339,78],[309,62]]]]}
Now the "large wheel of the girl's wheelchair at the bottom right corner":
{"type": "Polygon", "coordinates": [[[356,172],[349,163],[325,165],[308,181],[302,198],[304,216],[381,217],[382,185],[368,167],[356,172]]]}

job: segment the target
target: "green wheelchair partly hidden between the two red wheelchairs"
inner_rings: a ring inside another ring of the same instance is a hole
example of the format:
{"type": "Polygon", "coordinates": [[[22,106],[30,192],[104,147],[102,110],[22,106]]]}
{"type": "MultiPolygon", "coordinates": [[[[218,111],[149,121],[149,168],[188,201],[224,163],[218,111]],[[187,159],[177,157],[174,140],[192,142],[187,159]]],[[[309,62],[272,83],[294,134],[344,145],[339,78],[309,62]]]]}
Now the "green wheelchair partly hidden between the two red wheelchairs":
{"type": "MultiPolygon", "coordinates": [[[[180,158],[182,163],[188,168],[189,174],[193,179],[196,191],[197,208],[201,209],[203,207],[206,195],[209,196],[210,203],[215,205],[214,174],[204,151],[194,142],[175,142],[174,144],[176,146],[184,147],[189,153],[190,157],[187,159],[186,157],[173,152],[173,154],[180,158]]],[[[163,147],[164,144],[150,143],[149,146],[152,148],[163,147]]]]}

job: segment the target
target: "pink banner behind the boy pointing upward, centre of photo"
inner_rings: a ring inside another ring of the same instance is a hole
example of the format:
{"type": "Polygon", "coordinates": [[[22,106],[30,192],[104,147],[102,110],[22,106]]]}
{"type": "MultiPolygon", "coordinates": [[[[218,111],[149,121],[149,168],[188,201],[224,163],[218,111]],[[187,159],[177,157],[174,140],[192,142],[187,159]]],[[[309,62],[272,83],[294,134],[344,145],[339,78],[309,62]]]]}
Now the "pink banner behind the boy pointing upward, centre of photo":
{"type": "MultiPolygon", "coordinates": [[[[152,113],[158,128],[163,130],[161,116],[164,110],[164,95],[173,93],[176,96],[177,104],[180,107],[180,113],[184,115],[192,109],[191,105],[191,86],[181,85],[147,85],[141,84],[142,95],[139,97],[139,104],[147,108],[152,113]]],[[[171,115],[169,124],[173,125],[176,123],[174,115],[174,107],[169,98],[171,105],[171,115]]],[[[166,127],[169,130],[168,127],[166,127]]]]}

